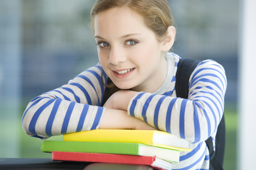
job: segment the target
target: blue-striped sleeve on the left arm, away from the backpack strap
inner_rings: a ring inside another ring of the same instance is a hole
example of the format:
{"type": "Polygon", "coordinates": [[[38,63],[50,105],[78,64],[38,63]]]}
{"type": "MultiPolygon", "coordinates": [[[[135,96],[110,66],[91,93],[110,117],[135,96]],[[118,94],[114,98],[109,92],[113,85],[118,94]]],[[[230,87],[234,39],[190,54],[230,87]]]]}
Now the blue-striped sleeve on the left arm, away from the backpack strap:
{"type": "Polygon", "coordinates": [[[98,129],[106,73],[100,65],[83,71],[67,85],[44,93],[28,103],[22,117],[27,135],[40,139],[82,130],[98,129]]]}

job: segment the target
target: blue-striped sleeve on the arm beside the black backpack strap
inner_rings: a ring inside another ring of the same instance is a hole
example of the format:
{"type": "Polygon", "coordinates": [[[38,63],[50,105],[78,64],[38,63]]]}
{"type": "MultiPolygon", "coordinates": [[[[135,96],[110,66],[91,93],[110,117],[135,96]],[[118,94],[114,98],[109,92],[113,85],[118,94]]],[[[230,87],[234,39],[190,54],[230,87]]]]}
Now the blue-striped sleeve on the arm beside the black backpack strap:
{"type": "Polygon", "coordinates": [[[130,101],[129,115],[191,143],[202,142],[222,118],[226,85],[223,67],[206,60],[190,76],[188,99],[177,98],[174,89],[170,96],[141,92],[130,101]]]}

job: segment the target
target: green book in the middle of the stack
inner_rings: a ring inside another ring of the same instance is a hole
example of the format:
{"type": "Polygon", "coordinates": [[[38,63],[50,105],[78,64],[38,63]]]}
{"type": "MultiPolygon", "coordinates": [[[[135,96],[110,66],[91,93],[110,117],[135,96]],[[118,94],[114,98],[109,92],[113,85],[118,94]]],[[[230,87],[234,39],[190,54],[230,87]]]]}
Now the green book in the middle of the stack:
{"type": "Polygon", "coordinates": [[[114,142],[75,142],[75,141],[43,141],[41,150],[78,152],[78,153],[108,153],[128,154],[138,156],[156,156],[169,162],[179,162],[180,151],[167,148],[153,147],[135,143],[114,142]]]}

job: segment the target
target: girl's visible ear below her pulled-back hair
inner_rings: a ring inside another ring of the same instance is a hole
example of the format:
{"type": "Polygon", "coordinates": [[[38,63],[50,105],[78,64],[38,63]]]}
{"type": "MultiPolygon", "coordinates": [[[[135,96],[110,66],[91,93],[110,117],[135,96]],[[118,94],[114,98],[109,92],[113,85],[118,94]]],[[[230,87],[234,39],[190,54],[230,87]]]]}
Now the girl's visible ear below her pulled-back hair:
{"type": "Polygon", "coordinates": [[[176,29],[174,26],[168,26],[167,29],[168,33],[167,36],[165,37],[164,41],[162,42],[162,51],[168,52],[168,50],[171,49],[173,46],[174,40],[175,40],[175,35],[176,35],[176,29]]]}

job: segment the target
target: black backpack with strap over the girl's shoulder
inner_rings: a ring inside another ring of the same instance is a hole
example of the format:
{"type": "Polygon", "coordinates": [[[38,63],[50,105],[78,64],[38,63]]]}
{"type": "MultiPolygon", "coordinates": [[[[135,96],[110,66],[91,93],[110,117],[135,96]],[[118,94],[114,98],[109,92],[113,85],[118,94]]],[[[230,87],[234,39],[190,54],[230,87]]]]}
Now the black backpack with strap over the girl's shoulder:
{"type": "MultiPolygon", "coordinates": [[[[197,59],[181,58],[179,60],[178,68],[176,72],[176,83],[175,83],[177,97],[188,99],[188,83],[190,80],[190,75],[194,71],[194,68],[196,68],[196,66],[199,63],[200,61],[197,59]]],[[[222,129],[220,130],[219,133],[225,133],[224,116],[220,121],[218,130],[219,129],[222,129]]],[[[217,140],[220,140],[221,142],[219,142],[220,146],[216,145],[216,152],[214,152],[213,150],[213,139],[211,138],[211,136],[205,141],[210,152],[210,170],[223,170],[222,165],[223,165],[225,142],[223,144],[223,139],[220,139],[220,138],[223,136],[225,138],[225,134],[223,135],[219,133],[217,133],[216,135],[216,144],[217,144],[217,140]],[[220,149],[217,149],[217,148],[220,148],[220,149]],[[218,152],[222,152],[222,153],[218,153],[218,152]],[[217,156],[215,156],[216,154],[217,156]],[[220,162],[218,159],[219,155],[221,156],[220,160],[222,160],[222,162],[220,162]]]]}

